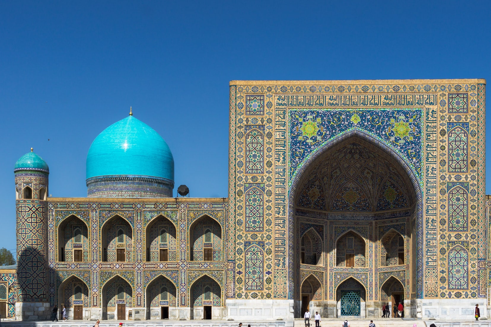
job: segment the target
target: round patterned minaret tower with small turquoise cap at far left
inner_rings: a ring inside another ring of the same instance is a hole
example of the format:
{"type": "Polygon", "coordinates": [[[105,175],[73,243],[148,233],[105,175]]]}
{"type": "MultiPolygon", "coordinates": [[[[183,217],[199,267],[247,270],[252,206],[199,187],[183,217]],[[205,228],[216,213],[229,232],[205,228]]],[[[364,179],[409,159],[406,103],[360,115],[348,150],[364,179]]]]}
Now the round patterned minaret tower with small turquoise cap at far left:
{"type": "Polygon", "coordinates": [[[33,149],[15,163],[17,236],[17,320],[50,316],[48,302],[48,175],[33,149]]]}

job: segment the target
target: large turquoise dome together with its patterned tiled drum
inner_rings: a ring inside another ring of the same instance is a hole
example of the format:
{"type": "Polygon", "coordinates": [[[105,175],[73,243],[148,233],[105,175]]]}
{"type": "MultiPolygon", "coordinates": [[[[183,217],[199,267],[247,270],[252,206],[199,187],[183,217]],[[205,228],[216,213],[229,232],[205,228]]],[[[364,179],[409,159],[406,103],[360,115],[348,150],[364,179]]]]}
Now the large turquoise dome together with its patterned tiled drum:
{"type": "Polygon", "coordinates": [[[89,196],[172,196],[174,158],[159,133],[130,115],[92,142],[86,176],[89,196]]]}

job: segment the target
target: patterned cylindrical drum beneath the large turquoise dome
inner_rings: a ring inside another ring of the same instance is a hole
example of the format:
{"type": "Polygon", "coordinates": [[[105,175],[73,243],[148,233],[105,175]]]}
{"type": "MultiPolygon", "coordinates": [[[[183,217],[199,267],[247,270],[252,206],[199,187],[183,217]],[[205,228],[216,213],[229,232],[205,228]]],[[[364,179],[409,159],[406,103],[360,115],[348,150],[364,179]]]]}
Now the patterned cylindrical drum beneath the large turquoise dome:
{"type": "Polygon", "coordinates": [[[92,198],[171,198],[174,188],[170,179],[138,175],[97,176],[86,184],[92,198]]]}

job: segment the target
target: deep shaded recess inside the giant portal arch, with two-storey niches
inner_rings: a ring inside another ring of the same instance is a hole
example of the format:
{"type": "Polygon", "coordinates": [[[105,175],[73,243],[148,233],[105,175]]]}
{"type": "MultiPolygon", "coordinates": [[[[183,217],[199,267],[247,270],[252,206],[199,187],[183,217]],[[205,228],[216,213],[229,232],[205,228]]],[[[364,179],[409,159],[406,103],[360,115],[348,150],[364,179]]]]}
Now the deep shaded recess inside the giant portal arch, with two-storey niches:
{"type": "Polygon", "coordinates": [[[368,317],[386,302],[410,305],[417,201],[399,162],[350,137],[314,159],[298,185],[296,316],[308,308],[368,317]]]}

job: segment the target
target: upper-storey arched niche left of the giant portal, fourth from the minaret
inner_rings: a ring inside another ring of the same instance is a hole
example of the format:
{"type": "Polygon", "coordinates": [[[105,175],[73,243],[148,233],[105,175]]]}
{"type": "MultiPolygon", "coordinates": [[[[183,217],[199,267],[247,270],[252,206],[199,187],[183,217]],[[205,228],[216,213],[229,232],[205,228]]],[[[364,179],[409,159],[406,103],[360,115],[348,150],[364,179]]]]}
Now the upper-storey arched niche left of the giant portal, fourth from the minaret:
{"type": "Polygon", "coordinates": [[[190,261],[220,261],[223,257],[221,226],[204,215],[190,226],[190,261]]]}

